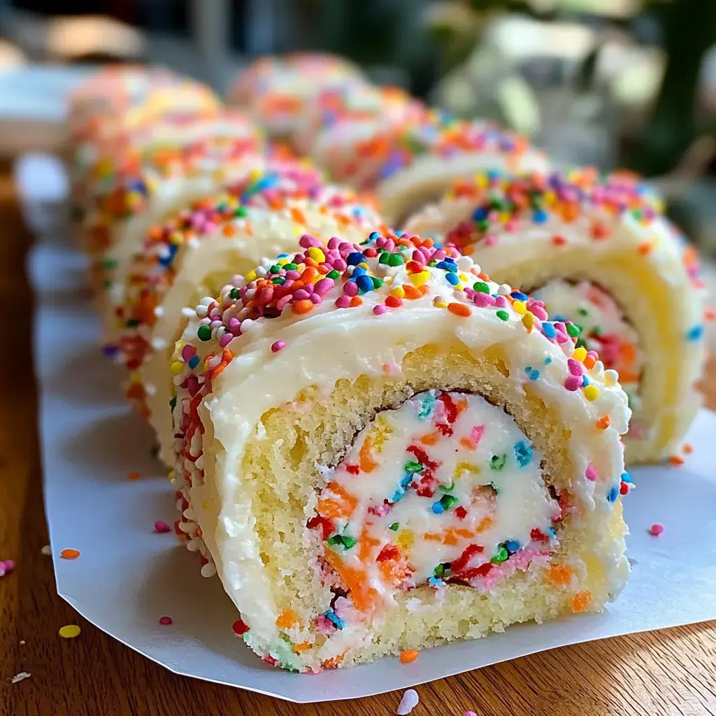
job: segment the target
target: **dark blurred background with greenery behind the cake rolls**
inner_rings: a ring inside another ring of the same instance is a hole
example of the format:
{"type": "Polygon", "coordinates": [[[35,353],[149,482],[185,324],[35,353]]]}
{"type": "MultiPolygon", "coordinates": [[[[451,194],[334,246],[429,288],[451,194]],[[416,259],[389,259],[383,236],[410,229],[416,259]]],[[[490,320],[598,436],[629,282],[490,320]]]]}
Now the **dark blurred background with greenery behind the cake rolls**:
{"type": "Polygon", "coordinates": [[[160,62],[223,90],[296,49],[345,54],[565,164],[641,173],[716,256],[716,0],[0,0],[0,145],[49,142],[87,65],[160,62]]]}

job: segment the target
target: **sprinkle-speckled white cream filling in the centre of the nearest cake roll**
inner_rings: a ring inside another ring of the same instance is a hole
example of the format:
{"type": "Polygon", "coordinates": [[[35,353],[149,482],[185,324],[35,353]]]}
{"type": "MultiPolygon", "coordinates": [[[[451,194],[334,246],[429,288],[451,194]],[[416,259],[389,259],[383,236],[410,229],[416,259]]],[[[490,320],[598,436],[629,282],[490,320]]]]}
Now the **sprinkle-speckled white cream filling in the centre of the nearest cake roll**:
{"type": "MultiPolygon", "coordinates": [[[[545,538],[561,515],[541,455],[483,397],[430,390],[379,412],[321,491],[316,512],[328,563],[362,574],[362,611],[396,591],[457,579],[480,588],[494,565],[545,538]],[[326,535],[326,531],[329,535],[326,535]]],[[[311,526],[311,523],[309,523],[311,526]]],[[[548,538],[533,546],[556,547],[548,538]]]]}

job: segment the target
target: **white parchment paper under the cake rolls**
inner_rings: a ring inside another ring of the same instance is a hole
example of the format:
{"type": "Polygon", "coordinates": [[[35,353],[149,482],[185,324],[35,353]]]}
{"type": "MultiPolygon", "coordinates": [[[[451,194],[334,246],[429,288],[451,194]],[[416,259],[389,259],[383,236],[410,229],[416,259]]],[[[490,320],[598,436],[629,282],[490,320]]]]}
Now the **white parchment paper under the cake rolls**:
{"type": "MultiPolygon", "coordinates": [[[[31,182],[32,184],[32,182],[31,182]]],[[[32,205],[30,206],[32,211],[32,205]]],[[[263,664],[236,637],[236,610],[218,579],[199,574],[173,533],[173,490],[150,458],[152,435],[119,388],[121,369],[97,347],[82,296],[84,258],[59,231],[41,231],[29,269],[37,291],[44,497],[57,590],[80,614],[178,674],[296,702],[368,696],[479,669],[543,649],[716,619],[716,415],[702,410],[681,467],[632,471],[624,500],[632,579],[604,614],[509,627],[504,634],[317,676],[263,664]],[[140,473],[129,480],[128,473],[140,473]],[[652,523],[664,524],[659,537],[652,523]],[[62,549],[81,556],[59,558],[62,549]],[[173,624],[162,626],[160,616],[173,624]]]]}

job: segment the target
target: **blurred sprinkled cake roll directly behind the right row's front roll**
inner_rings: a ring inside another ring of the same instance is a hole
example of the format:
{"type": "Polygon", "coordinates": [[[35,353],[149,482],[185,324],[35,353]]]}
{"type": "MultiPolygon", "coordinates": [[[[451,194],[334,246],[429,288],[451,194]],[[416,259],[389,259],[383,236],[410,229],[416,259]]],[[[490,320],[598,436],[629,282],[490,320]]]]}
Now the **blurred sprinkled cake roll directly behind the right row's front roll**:
{"type": "Polygon", "coordinates": [[[455,179],[490,169],[548,168],[546,156],[522,137],[435,110],[388,127],[380,120],[338,122],[319,137],[313,156],[335,180],[375,190],[381,211],[395,226],[440,198],[455,179]]]}

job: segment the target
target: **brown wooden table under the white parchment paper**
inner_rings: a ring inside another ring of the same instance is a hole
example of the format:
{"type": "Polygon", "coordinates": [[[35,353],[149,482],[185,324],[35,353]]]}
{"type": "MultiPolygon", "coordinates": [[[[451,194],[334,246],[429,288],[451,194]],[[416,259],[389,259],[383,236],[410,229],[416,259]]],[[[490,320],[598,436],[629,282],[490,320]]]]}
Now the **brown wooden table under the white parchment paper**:
{"type": "MultiPolygon", "coordinates": [[[[31,238],[0,177],[0,716],[390,715],[400,693],[294,705],[178,677],[107,637],[57,596],[42,506],[24,274],[31,238]],[[57,629],[80,624],[77,639],[57,629]],[[11,684],[19,672],[32,676],[11,684]]],[[[716,407],[716,361],[708,403],[716,407]]],[[[715,595],[716,599],[716,595],[715,595]]],[[[306,677],[308,678],[308,677],[306,677]]],[[[636,634],[497,664],[417,688],[415,716],[716,715],[716,622],[636,634]]]]}

